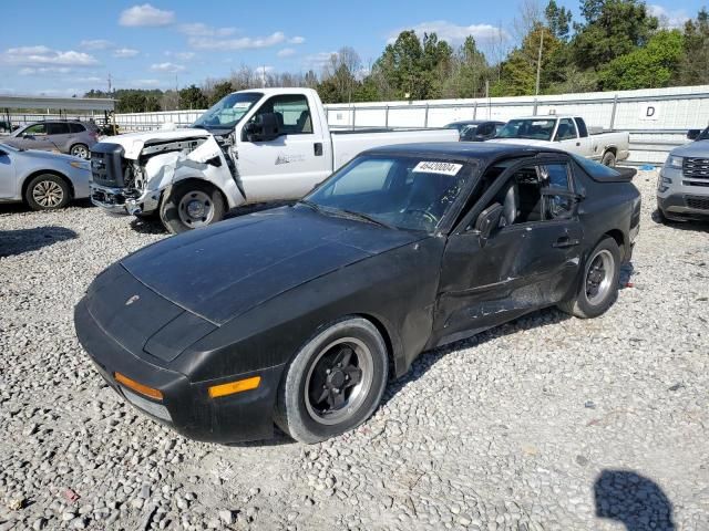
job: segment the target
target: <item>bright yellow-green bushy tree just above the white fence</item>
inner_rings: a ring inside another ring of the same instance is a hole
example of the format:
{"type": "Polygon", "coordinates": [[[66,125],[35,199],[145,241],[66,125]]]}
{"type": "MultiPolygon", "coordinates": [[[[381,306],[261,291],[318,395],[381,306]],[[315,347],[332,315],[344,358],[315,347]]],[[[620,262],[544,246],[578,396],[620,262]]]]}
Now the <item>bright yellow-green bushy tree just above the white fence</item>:
{"type": "Polygon", "coordinates": [[[657,32],[644,48],[616,58],[600,72],[606,91],[668,86],[677,77],[684,37],[678,30],[657,32]]]}

